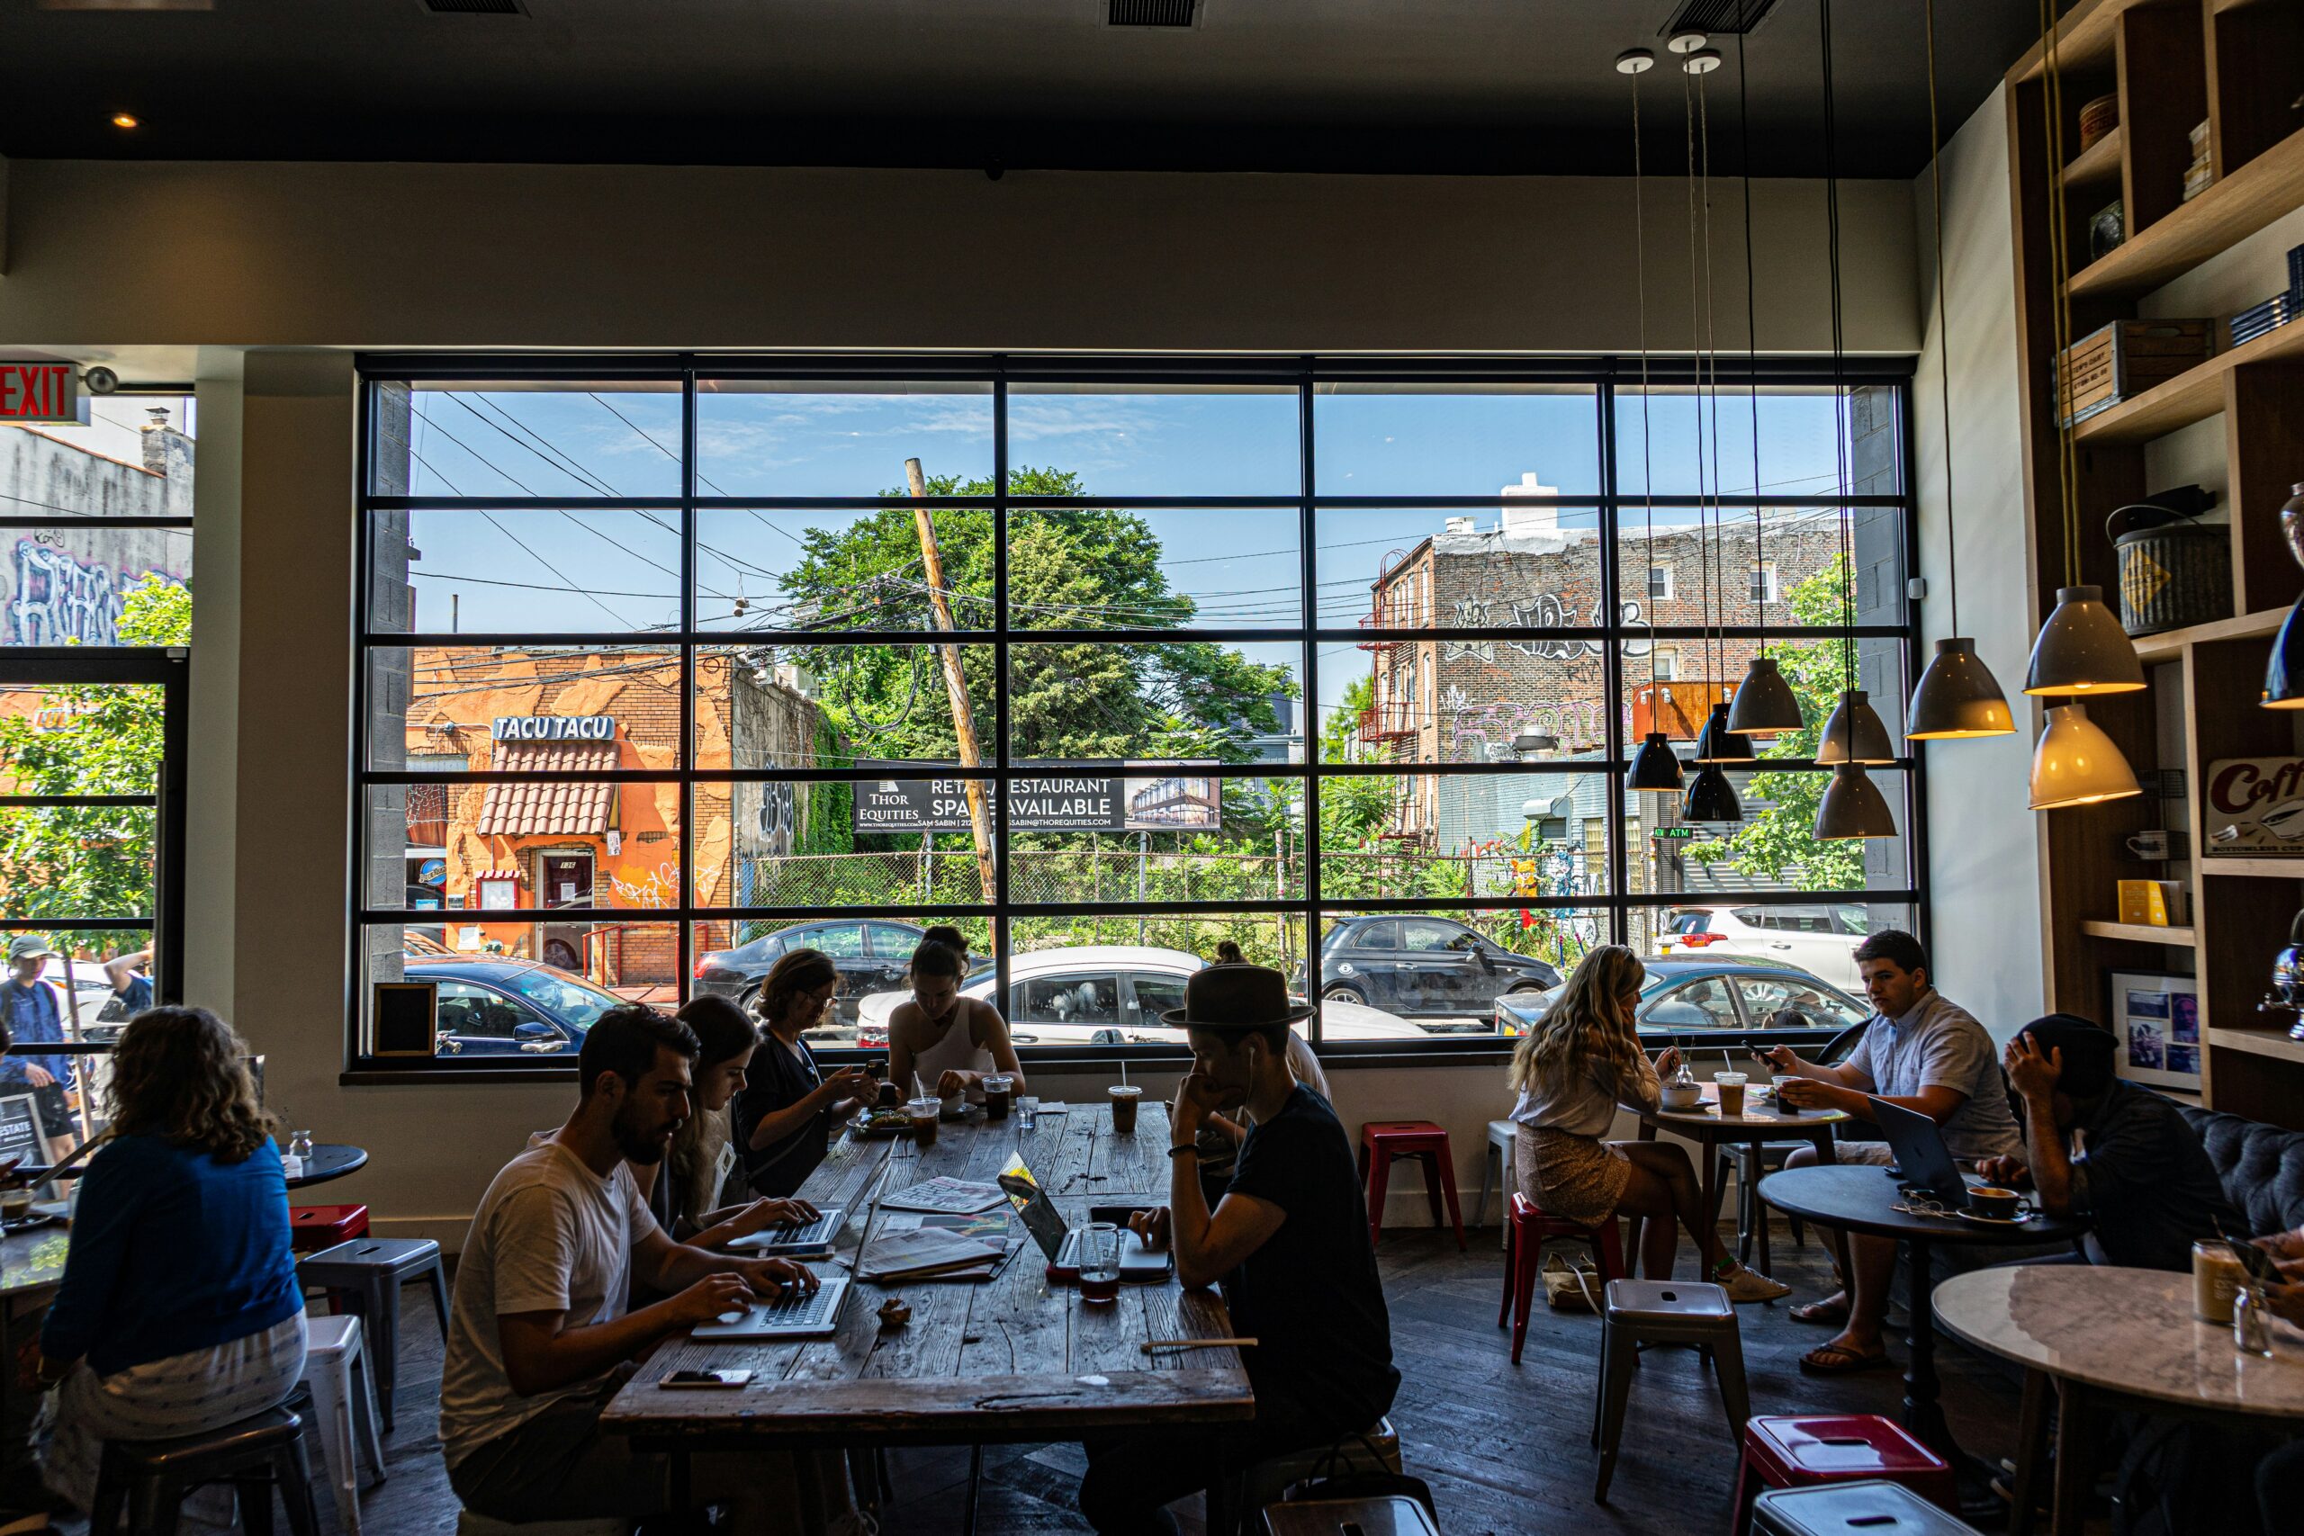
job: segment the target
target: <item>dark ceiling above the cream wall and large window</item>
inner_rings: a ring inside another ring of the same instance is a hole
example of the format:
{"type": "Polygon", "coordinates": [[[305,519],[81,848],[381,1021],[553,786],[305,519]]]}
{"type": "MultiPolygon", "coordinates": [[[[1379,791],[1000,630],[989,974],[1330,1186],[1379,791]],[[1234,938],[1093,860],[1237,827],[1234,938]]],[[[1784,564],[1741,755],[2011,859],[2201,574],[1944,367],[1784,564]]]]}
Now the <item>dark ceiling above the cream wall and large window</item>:
{"type": "MultiPolygon", "coordinates": [[[[1684,5],[1200,0],[1189,30],[1129,30],[1108,0],[136,9],[159,2],[0,0],[0,154],[1617,175],[1631,88],[1610,62],[1668,60],[1684,5]],[[122,111],[143,127],[111,127],[122,111]]],[[[1760,175],[1822,168],[1818,5],[1776,0],[1746,39],[1760,175]]],[[[2037,0],[1940,12],[1949,131],[2032,41],[2037,0]]],[[[1922,0],[1832,21],[1843,175],[1915,175],[1922,0]]],[[[1716,46],[1712,166],[1735,173],[1737,39],[1716,46]]],[[[1682,85],[1645,76],[1652,170],[1684,164],[1682,85]]]]}

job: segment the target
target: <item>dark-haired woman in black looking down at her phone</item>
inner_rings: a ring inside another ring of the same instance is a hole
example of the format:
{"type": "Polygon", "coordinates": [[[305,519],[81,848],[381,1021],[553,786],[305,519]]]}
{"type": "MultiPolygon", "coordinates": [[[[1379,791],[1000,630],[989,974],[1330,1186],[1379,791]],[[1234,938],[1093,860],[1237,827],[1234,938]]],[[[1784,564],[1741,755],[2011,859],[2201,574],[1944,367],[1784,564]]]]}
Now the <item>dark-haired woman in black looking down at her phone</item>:
{"type": "Polygon", "coordinates": [[[756,1195],[797,1193],[825,1161],[832,1128],[878,1094],[862,1066],[827,1075],[799,1039],[823,1020],[839,990],[841,972],[820,949],[781,956],[760,981],[756,1006],[767,1041],[753,1052],[744,1092],[733,1101],[737,1156],[756,1195]]]}

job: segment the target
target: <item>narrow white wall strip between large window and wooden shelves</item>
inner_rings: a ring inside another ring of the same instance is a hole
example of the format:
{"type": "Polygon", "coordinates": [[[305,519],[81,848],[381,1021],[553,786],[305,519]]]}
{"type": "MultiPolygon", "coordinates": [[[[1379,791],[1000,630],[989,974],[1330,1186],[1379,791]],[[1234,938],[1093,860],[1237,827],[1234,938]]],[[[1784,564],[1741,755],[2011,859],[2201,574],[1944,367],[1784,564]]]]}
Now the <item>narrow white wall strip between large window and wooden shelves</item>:
{"type": "Polygon", "coordinates": [[[2039,829],[2028,808],[2034,709],[2023,417],[2016,396],[2016,246],[2009,207],[2007,88],[1961,124],[1945,152],[1945,290],[1935,318],[1935,216],[1928,175],[1912,184],[1922,355],[1912,382],[1924,654],[1951,629],[1940,366],[1951,364],[1951,493],[1958,511],[1961,629],[2016,712],[2014,737],[1928,744],[1928,891],[1938,981],[1984,1027],[2009,1036],[2041,1013],[2039,829]]]}

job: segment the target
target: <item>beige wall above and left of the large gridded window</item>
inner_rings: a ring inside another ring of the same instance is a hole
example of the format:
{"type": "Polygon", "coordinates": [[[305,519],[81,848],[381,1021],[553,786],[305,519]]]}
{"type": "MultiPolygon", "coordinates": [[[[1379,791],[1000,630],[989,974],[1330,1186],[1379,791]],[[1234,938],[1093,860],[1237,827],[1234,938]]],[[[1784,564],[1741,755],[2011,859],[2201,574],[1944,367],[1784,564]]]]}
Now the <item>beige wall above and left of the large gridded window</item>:
{"type": "MultiPolygon", "coordinates": [[[[1647,189],[1659,350],[1689,345],[1682,196],[1647,189]]],[[[1908,355],[1910,189],[1848,184],[1843,212],[1850,348],[1908,355]]],[[[1735,184],[1714,189],[1730,350],[1740,214],[1735,184]]],[[[1638,336],[1629,187],[1608,180],[14,161],[0,221],[0,345],[194,357],[203,380],[191,999],[267,1052],[297,1126],[376,1154],[332,1195],[449,1241],[574,1089],[339,1080],[353,348],[1493,355],[1638,336]]],[[[1818,184],[1758,184],[1756,223],[1765,348],[1822,350],[1818,184]]],[[[1334,1087],[1355,1128],[1442,1121],[1470,1200],[1509,1108],[1500,1064],[1334,1087]]],[[[1419,1207],[1410,1191],[1392,1218],[1419,1207]]]]}

